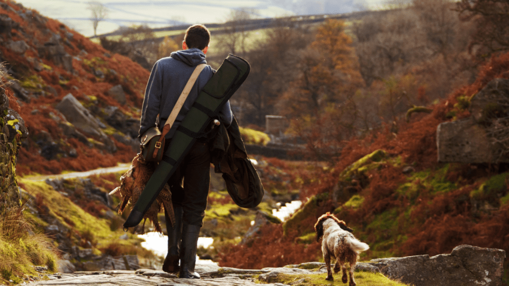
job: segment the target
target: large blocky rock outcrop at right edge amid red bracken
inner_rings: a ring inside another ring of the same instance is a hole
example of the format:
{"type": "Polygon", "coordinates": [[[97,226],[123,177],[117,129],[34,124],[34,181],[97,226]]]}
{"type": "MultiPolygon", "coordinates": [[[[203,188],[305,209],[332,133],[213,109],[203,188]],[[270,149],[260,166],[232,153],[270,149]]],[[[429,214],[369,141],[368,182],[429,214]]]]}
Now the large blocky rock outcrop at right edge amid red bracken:
{"type": "Polygon", "coordinates": [[[509,163],[509,80],[490,81],[468,110],[469,118],[438,125],[438,161],[509,163]]]}

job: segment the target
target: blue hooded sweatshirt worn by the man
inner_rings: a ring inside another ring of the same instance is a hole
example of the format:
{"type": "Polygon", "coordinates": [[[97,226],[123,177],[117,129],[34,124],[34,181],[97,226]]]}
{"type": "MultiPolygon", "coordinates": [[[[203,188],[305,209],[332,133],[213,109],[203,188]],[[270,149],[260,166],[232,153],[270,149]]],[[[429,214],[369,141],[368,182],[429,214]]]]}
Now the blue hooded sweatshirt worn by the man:
{"type": "MultiPolygon", "coordinates": [[[[142,137],[149,128],[158,124],[157,115],[159,115],[159,129],[162,130],[166,119],[172,112],[177,103],[180,93],[184,89],[187,80],[191,77],[194,68],[200,64],[207,64],[205,54],[197,48],[180,50],[172,52],[167,58],[162,58],[154,64],[150,73],[145,98],[143,100],[142,118],[140,119],[140,128],[138,138],[142,137]]],[[[212,77],[215,70],[206,66],[196,79],[189,95],[182,106],[175,123],[166,134],[166,138],[172,138],[185,115],[198,97],[207,81],[212,77]]],[[[223,124],[230,126],[232,123],[232,110],[230,101],[228,101],[220,111],[223,124]]]]}

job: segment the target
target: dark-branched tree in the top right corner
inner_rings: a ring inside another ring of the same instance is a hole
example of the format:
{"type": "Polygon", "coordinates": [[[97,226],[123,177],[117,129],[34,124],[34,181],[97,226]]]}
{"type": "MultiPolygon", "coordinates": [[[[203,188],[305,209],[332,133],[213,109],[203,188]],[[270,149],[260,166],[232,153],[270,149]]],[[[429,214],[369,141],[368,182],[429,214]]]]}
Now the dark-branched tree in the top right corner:
{"type": "Polygon", "coordinates": [[[461,0],[456,5],[462,20],[475,22],[469,51],[477,59],[509,50],[509,1],[461,0]]]}

